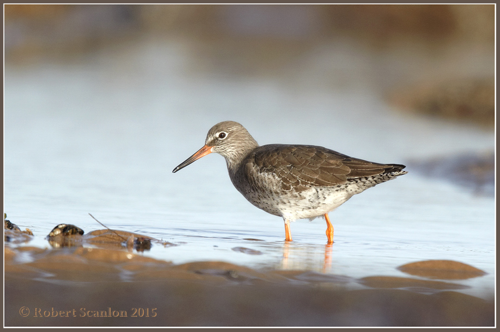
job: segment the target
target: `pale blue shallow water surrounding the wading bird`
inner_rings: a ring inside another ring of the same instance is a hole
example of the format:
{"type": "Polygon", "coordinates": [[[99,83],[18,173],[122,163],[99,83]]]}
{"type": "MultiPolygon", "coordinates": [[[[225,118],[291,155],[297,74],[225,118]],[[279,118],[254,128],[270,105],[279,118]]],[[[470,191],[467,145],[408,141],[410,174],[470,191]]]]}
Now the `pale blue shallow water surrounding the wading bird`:
{"type": "Polygon", "coordinates": [[[407,276],[395,268],[446,259],[488,273],[461,281],[472,287],[461,292],[492,293],[493,198],[410,166],[330,213],[332,246],[321,219],[292,223],[294,241],[285,244],[282,220],[239,195],[220,156],[171,173],[222,120],[242,123],[260,144],[315,144],[403,164],[492,149],[492,132],[393,112],[365,84],[331,90],[307,78],[196,71],[193,61],[171,42],[71,63],[6,65],[4,211],[33,231],[29,245],[48,247],[43,238],[60,223],[101,229],[91,213],[109,228],[178,244],[143,253],[176,264],[225,261],[361,278],[407,276]]]}

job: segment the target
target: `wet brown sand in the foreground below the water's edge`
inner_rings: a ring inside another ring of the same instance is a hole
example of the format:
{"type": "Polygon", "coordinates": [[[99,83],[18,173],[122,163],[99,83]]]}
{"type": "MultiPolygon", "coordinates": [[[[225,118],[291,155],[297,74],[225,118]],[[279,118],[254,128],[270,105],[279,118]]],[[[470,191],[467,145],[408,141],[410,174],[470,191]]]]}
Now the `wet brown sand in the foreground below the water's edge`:
{"type": "MultiPolygon", "coordinates": [[[[26,236],[4,231],[10,240],[26,236]]],[[[92,233],[57,249],[6,242],[6,327],[494,325],[493,296],[459,292],[468,288],[460,280],[484,273],[459,262],[416,262],[399,267],[408,278],[361,279],[225,262],[174,265],[127,248],[123,238],[136,234],[92,233]]]]}

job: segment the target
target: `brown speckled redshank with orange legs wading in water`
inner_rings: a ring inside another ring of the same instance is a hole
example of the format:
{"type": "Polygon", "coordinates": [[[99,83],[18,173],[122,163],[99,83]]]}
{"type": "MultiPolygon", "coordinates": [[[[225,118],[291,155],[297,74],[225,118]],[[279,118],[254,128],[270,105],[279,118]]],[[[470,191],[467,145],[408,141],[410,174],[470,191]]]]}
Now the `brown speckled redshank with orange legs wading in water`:
{"type": "Polygon", "coordinates": [[[324,216],[328,244],[333,243],[328,212],[352,195],[407,173],[404,165],[373,163],[321,146],[259,146],[234,121],[214,125],[205,145],[173,173],[212,152],[225,158],[232,184],[251,204],[283,218],[285,241],[292,241],[290,221],[324,216]]]}

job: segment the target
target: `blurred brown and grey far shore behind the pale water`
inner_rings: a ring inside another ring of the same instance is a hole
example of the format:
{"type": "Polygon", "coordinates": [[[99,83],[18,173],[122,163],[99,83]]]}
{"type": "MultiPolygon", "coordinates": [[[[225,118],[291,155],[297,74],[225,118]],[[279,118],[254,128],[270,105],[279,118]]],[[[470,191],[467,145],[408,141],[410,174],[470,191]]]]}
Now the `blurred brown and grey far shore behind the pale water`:
{"type": "MultiPolygon", "coordinates": [[[[331,89],[364,84],[398,107],[493,123],[493,5],[12,4],[4,10],[7,64],[68,63],[109,49],[170,45],[190,61],[186,74],[272,77],[331,89]]],[[[157,52],[150,67],[177,60],[157,52]]]]}

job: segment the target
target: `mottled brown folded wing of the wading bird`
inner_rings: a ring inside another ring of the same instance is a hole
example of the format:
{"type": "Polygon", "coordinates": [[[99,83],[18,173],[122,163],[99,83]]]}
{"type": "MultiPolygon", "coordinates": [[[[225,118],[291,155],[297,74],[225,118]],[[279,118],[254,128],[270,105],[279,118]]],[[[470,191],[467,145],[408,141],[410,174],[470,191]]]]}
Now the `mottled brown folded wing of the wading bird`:
{"type": "Polygon", "coordinates": [[[258,172],[273,173],[283,189],[301,191],[310,187],[331,187],[349,179],[398,171],[403,165],[385,165],[352,158],[313,145],[263,145],[253,152],[258,172]]]}

